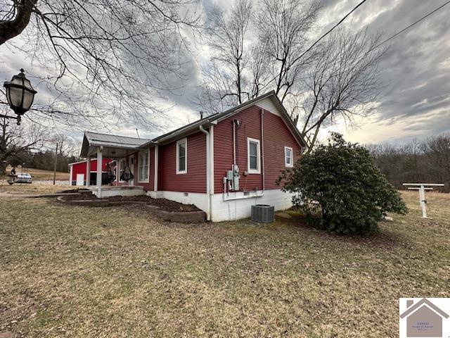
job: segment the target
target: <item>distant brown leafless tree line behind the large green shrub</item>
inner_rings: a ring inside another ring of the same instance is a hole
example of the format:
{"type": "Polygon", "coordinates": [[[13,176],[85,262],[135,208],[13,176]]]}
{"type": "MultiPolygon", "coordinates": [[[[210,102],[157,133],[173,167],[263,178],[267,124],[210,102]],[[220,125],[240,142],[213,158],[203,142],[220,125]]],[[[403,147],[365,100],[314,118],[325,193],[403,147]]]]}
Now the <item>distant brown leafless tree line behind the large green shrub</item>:
{"type": "Polygon", "coordinates": [[[366,144],[375,165],[397,189],[403,183],[444,183],[440,191],[450,192],[450,133],[409,144],[366,144]]]}

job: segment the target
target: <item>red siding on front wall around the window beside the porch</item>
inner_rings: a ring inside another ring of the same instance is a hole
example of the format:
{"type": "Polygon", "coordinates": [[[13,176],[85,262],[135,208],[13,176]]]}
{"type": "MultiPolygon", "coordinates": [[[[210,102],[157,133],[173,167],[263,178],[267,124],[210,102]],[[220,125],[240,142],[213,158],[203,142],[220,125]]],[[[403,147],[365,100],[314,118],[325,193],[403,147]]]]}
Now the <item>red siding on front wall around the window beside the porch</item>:
{"type": "Polygon", "coordinates": [[[176,141],[160,146],[158,190],[206,192],[206,135],[196,132],[187,137],[188,172],[176,174],[176,141]]]}

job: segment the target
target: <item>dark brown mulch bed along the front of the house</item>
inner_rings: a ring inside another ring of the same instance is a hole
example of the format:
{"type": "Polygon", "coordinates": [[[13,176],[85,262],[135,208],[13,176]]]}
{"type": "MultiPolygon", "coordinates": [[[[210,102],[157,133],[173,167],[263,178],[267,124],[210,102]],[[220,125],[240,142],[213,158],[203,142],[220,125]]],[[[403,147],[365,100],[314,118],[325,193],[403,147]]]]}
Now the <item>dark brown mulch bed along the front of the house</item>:
{"type": "Polygon", "coordinates": [[[92,201],[89,206],[103,206],[105,201],[110,202],[124,202],[129,204],[130,202],[145,202],[150,206],[158,206],[162,211],[168,211],[170,213],[189,213],[194,211],[200,211],[199,208],[193,204],[181,204],[176,201],[170,201],[168,199],[152,199],[150,196],[113,196],[105,199],[97,199],[96,196],[91,194],[79,194],[79,195],[67,195],[63,197],[63,201],[92,201]],[[96,204],[98,202],[98,205],[96,204]]]}

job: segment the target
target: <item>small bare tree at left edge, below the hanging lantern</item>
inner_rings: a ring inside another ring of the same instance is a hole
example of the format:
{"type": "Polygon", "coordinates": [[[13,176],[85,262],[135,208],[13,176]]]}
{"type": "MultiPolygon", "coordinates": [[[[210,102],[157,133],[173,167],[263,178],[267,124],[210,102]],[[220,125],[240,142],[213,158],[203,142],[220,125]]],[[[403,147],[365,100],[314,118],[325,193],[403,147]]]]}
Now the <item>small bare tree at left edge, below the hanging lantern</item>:
{"type": "Polygon", "coordinates": [[[6,165],[13,158],[41,149],[47,137],[46,130],[39,125],[18,126],[9,119],[0,119],[0,175],[4,175],[6,165]]]}

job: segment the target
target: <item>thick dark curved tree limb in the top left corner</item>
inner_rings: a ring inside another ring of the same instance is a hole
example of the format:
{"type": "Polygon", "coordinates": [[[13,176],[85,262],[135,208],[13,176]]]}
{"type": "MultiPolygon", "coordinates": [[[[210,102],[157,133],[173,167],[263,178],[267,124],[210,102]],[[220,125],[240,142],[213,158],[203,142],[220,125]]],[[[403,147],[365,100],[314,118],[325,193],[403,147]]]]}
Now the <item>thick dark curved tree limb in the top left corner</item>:
{"type": "Polygon", "coordinates": [[[37,0],[20,0],[15,4],[17,15],[12,21],[0,20],[0,45],[13,37],[17,37],[30,23],[31,11],[37,0]]]}

